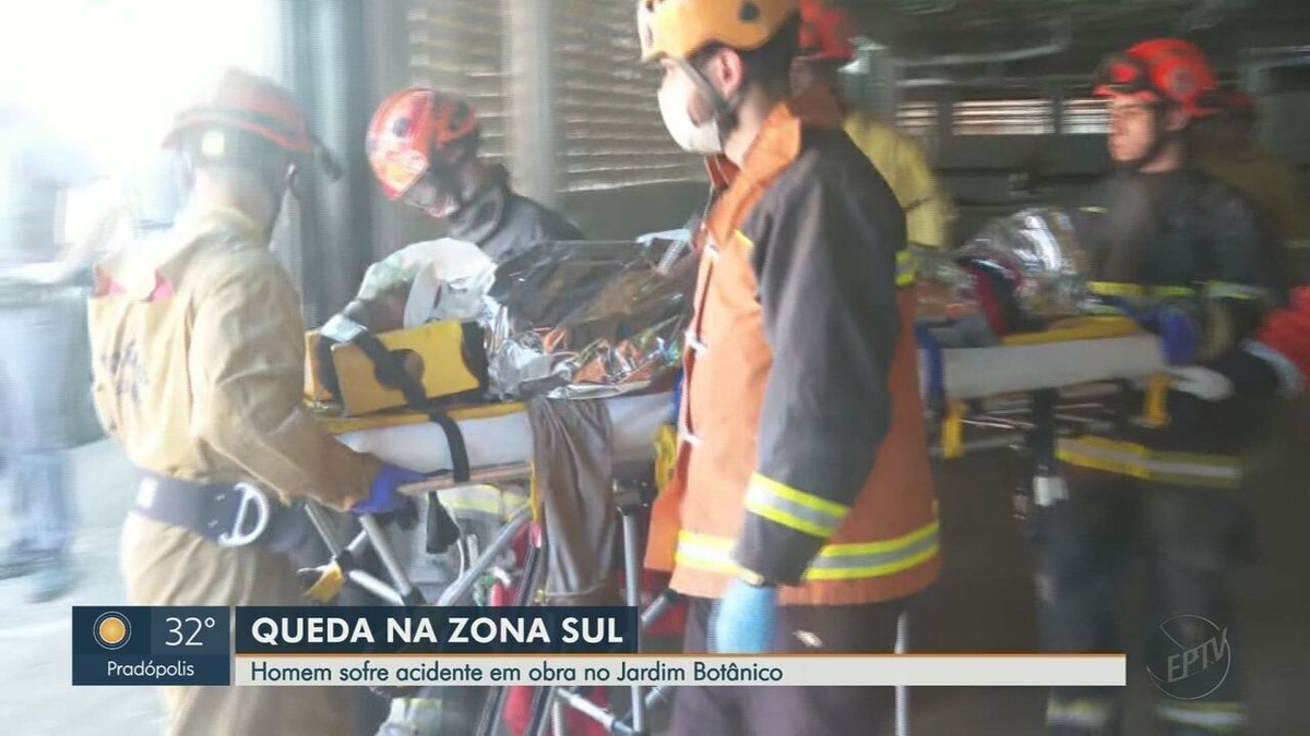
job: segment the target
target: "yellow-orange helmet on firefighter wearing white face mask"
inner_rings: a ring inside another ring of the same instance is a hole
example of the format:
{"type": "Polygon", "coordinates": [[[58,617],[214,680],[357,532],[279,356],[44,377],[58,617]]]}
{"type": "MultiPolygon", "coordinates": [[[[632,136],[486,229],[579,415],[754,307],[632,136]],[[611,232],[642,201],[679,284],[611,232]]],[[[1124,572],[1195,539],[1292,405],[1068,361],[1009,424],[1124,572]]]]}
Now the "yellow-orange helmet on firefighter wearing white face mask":
{"type": "Polygon", "coordinates": [[[686,59],[710,43],[752,51],[799,10],[800,0],[638,0],[642,60],[686,59]]]}

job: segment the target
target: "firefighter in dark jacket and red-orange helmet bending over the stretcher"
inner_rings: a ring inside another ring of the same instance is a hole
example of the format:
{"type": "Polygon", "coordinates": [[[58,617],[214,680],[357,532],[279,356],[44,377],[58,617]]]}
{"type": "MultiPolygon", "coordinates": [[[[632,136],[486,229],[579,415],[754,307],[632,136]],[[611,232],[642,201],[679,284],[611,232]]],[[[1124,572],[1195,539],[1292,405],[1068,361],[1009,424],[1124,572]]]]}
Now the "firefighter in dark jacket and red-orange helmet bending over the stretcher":
{"type": "Polygon", "coordinates": [[[445,220],[448,236],[500,263],[540,241],[583,240],[558,212],[510,189],[504,166],[478,158],[473,107],[427,88],[388,97],[368,124],[368,162],[388,199],[445,220]]]}

